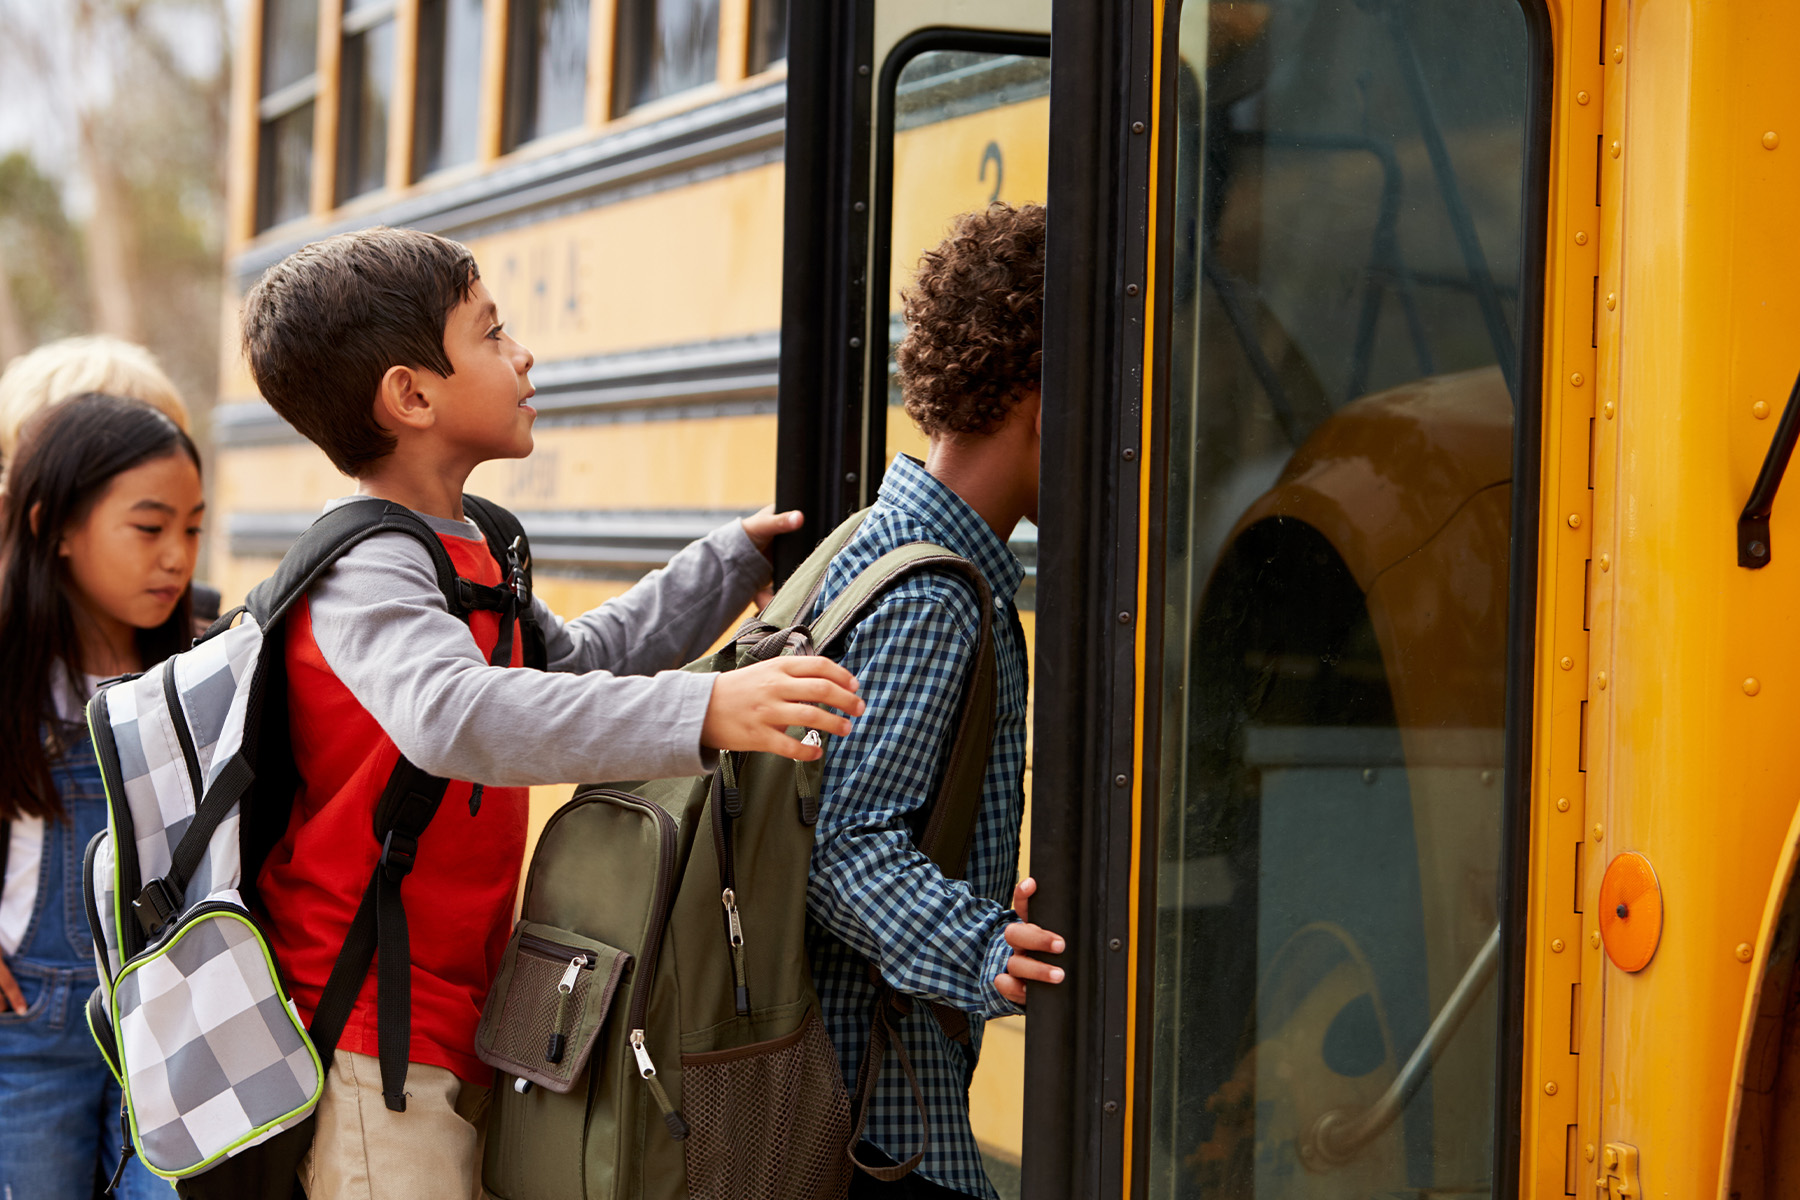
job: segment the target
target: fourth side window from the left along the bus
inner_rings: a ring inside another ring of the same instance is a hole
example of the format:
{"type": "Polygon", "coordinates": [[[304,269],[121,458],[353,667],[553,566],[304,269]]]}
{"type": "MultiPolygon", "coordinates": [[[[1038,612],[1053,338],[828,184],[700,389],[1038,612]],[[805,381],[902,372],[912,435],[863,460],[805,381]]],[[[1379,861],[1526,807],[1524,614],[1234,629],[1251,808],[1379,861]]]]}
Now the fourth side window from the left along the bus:
{"type": "Polygon", "coordinates": [[[506,31],[506,149],[581,124],[589,0],[511,0],[506,31]]]}

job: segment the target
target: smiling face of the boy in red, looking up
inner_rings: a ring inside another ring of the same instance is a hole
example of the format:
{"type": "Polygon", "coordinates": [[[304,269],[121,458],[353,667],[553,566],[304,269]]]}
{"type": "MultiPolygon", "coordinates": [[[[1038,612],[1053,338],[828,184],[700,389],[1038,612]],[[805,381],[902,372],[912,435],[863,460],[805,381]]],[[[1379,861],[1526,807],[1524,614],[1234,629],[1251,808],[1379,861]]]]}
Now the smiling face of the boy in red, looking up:
{"type": "Polygon", "coordinates": [[[454,367],[450,376],[418,372],[437,434],[473,462],[531,453],[531,423],[538,417],[527,403],[536,392],[529,378],[531,351],[506,333],[493,295],[479,279],[445,320],[445,353],[454,367]]]}

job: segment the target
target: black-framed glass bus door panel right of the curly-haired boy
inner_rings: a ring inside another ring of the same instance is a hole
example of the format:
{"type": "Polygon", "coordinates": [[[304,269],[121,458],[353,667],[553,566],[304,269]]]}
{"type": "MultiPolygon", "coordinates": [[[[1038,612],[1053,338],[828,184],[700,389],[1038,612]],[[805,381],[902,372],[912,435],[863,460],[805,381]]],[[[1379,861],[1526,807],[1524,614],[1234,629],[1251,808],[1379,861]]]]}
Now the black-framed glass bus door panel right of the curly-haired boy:
{"type": "Polygon", "coordinates": [[[1026,1196],[1516,1189],[1546,63],[1055,7],[1026,1196]]]}

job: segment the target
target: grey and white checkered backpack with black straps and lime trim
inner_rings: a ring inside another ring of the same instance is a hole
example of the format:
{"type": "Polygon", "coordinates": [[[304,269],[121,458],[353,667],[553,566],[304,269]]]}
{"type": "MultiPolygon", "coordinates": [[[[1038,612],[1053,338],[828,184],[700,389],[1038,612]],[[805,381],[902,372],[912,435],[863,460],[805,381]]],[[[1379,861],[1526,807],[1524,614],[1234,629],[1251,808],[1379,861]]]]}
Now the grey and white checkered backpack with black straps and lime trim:
{"type": "Polygon", "coordinates": [[[464,507],[508,585],[459,578],[443,542],[410,509],[356,500],[313,522],[275,574],[193,649],[88,702],[108,804],[108,828],[88,844],[83,865],[101,975],[88,1027],[124,1090],[121,1173],[135,1151],[187,1196],[295,1195],[310,1117],[376,948],[382,1090],[389,1108],[405,1108],[410,955],[401,882],[448,781],[405,757],[394,766],[371,829],[382,860],[310,1029],[254,916],[256,880],[299,788],[284,619],[346,551],[380,533],[412,536],[430,552],[452,613],[502,613],[493,662],[511,662],[517,615],[527,666],[544,666],[524,531],[477,497],[464,497],[464,507]]]}

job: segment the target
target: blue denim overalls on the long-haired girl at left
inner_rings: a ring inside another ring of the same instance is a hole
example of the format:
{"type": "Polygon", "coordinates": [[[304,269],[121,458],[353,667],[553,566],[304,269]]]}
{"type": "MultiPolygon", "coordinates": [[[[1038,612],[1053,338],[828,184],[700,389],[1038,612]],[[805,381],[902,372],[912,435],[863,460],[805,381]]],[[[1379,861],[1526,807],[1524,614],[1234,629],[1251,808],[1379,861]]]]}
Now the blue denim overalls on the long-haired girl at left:
{"type": "MultiPolygon", "coordinates": [[[[119,1166],[119,1083],[106,1070],[86,1002],[99,984],[81,892],[81,856],[106,828],[99,763],[86,741],[56,766],[65,820],[47,820],[38,900],[5,964],[25,1011],[0,1013],[0,1198],[88,1200],[119,1166]]],[[[133,1157],[117,1196],[173,1200],[133,1157]]]]}

